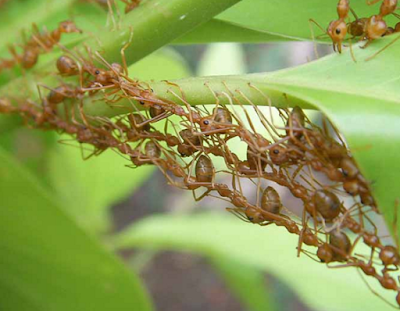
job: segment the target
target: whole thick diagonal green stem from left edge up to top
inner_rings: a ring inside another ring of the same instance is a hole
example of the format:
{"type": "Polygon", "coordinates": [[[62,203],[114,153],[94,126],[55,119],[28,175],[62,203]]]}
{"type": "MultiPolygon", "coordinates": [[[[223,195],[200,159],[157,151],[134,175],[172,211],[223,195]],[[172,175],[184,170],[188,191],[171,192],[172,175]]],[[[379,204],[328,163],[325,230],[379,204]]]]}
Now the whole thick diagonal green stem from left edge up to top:
{"type": "MultiPolygon", "coordinates": [[[[206,23],[240,0],[153,0],[145,1],[124,17],[119,30],[100,30],[88,37],[85,48],[99,51],[109,62],[122,63],[121,50],[125,46],[125,61],[129,66],[167,43],[206,23]]],[[[51,61],[30,71],[25,77],[12,80],[0,88],[0,94],[9,97],[37,98],[38,83],[54,86],[59,83],[50,74],[55,70],[55,53],[51,61]],[[25,89],[21,94],[21,85],[25,89]]]]}

